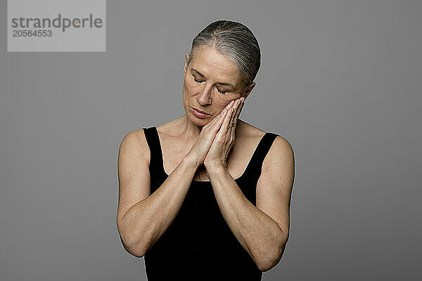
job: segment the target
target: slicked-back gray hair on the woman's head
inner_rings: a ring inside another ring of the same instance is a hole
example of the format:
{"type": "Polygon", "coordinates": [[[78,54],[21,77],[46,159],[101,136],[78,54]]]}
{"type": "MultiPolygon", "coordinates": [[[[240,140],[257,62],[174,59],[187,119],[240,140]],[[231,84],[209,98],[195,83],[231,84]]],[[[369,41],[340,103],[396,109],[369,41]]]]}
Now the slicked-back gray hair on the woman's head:
{"type": "Polygon", "coordinates": [[[215,48],[236,65],[245,88],[252,84],[260,70],[261,51],[257,39],[248,27],[230,20],[210,23],[193,39],[187,65],[204,46],[215,48]]]}

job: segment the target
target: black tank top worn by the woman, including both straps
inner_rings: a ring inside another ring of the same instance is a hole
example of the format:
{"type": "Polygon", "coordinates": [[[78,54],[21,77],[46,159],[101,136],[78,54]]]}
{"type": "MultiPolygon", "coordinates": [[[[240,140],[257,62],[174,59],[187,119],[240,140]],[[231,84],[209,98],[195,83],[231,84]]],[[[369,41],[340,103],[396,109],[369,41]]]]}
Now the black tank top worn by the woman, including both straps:
{"type": "MultiPolygon", "coordinates": [[[[151,194],[167,178],[155,126],[143,128],[151,150],[151,194]]],[[[235,181],[256,206],[256,185],[262,162],[276,133],[265,133],[242,176],[235,181]]],[[[231,232],[219,210],[210,181],[192,180],[179,213],[144,256],[148,281],[261,280],[248,252],[231,232]]]]}

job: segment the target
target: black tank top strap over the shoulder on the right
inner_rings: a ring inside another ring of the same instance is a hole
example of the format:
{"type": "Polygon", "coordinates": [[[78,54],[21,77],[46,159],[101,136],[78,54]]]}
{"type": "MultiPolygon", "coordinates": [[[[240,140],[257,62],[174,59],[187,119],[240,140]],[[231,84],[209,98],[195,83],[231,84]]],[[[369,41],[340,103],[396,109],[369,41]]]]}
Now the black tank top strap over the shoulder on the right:
{"type": "Polygon", "coordinates": [[[277,136],[279,135],[270,132],[267,132],[262,136],[260,143],[258,143],[257,148],[255,149],[255,152],[253,152],[252,158],[250,158],[249,164],[245,169],[245,178],[249,183],[255,185],[260,178],[264,158],[267,156],[269,149],[277,136]]]}

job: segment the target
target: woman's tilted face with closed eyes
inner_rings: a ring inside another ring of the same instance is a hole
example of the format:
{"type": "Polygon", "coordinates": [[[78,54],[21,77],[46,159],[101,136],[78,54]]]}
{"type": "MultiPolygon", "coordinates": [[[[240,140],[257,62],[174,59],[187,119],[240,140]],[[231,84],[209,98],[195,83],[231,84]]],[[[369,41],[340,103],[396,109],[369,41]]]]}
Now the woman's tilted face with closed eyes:
{"type": "Polygon", "coordinates": [[[204,126],[217,116],[231,100],[248,95],[243,89],[241,74],[234,63],[210,47],[201,48],[184,67],[183,105],[187,117],[204,126]],[[196,115],[193,108],[207,113],[196,115]]]}

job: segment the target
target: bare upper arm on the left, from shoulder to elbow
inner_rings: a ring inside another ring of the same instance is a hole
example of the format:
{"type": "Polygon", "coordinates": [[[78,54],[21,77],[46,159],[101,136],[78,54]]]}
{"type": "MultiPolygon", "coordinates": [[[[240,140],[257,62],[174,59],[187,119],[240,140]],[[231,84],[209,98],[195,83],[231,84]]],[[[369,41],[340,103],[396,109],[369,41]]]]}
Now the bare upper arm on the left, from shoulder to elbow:
{"type": "Polygon", "coordinates": [[[119,178],[117,227],[120,226],[124,214],[130,207],[150,195],[149,159],[150,152],[143,129],[124,136],[117,161],[119,178]]]}

